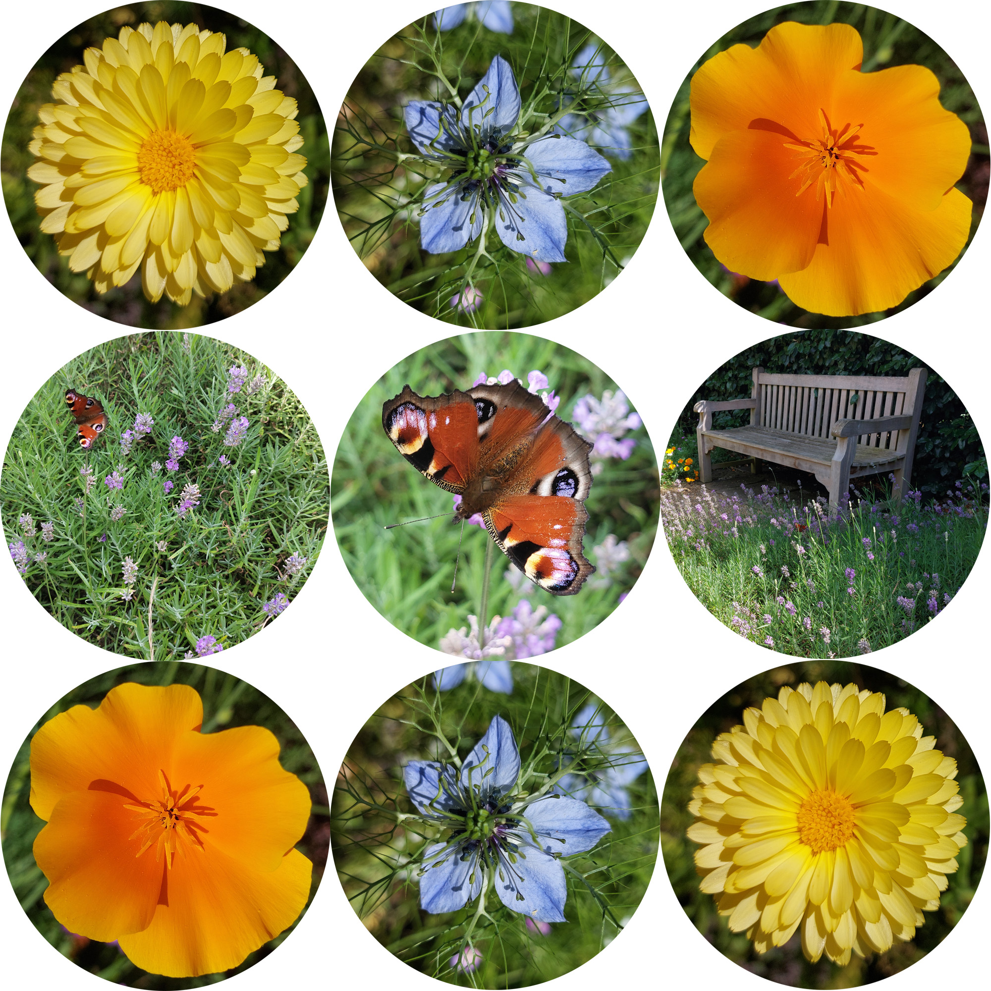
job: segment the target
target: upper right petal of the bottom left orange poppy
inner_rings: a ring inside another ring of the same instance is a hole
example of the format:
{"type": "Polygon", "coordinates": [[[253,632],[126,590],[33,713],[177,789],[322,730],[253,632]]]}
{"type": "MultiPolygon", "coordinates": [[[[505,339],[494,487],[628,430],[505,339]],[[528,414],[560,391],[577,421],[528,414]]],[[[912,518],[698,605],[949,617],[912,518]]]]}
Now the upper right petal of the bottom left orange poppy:
{"type": "MultiPolygon", "coordinates": [[[[309,821],[309,789],[278,763],[278,740],[262,726],[237,726],[218,733],[186,733],[168,769],[169,783],[203,790],[198,834],[256,870],[278,866],[309,821]]],[[[154,796],[144,796],[152,798],[154,796]]]]}

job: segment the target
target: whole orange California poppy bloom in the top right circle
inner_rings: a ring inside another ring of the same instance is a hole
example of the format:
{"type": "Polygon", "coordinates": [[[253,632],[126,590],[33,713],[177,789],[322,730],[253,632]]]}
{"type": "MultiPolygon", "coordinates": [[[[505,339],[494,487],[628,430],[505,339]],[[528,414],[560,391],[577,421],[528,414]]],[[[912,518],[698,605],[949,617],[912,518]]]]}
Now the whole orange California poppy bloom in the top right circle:
{"type": "Polygon", "coordinates": [[[846,24],[779,24],[692,78],[695,196],[730,271],[829,316],[897,306],[960,254],[966,125],[922,65],[861,72],[846,24]]]}

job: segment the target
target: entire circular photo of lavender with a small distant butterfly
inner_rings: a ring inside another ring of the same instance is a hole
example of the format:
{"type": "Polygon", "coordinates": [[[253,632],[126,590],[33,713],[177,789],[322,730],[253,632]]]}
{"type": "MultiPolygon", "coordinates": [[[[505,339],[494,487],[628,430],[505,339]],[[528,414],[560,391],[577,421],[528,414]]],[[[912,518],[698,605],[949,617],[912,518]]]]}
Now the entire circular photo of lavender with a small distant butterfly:
{"type": "Polygon", "coordinates": [[[221,341],[143,333],[43,385],[0,475],[10,557],[104,650],[205,657],[285,610],[320,554],[327,463],[300,401],[221,341]]]}

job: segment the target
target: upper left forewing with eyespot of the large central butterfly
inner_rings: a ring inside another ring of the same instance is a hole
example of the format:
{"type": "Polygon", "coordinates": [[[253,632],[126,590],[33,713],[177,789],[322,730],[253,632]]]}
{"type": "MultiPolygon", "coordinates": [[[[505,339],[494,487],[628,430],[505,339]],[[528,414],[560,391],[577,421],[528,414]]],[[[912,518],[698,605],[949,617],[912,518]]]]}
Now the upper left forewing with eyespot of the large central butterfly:
{"type": "Polygon", "coordinates": [[[460,494],[478,472],[479,414],[468,392],[417,395],[408,385],[382,407],[395,449],[441,489],[460,494]]]}

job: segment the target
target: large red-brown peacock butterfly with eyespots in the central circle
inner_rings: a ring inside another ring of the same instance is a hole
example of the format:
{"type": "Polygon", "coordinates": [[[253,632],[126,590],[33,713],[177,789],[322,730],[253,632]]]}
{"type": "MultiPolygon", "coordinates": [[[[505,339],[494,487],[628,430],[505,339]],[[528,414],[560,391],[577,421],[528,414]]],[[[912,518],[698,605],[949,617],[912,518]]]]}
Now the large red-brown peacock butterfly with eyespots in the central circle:
{"type": "Polygon", "coordinates": [[[573,596],[596,570],[582,554],[593,445],[538,395],[518,382],[426,397],[405,385],[382,425],[413,468],[461,495],[459,518],[482,515],[531,582],[573,596]]]}

